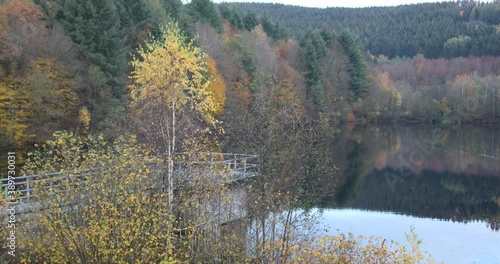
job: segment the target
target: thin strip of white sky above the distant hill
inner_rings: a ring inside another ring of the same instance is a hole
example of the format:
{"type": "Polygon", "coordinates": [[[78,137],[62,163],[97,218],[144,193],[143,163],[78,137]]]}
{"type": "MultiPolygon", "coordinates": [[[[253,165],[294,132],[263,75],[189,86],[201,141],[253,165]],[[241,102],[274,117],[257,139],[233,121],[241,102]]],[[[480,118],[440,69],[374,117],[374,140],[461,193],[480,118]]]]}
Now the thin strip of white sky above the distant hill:
{"type": "Polygon", "coordinates": [[[307,7],[367,7],[367,6],[396,6],[416,4],[425,2],[442,2],[444,0],[213,0],[214,3],[221,2],[261,2],[281,3],[286,5],[298,5],[307,7]]]}

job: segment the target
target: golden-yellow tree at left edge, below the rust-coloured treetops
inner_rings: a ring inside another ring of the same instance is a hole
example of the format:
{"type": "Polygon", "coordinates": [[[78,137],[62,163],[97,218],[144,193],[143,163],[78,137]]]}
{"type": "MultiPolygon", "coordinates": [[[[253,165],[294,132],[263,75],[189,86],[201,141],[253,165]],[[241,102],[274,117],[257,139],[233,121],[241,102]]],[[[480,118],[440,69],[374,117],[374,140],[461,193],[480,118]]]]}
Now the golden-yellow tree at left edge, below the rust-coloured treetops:
{"type": "Polygon", "coordinates": [[[79,104],[73,85],[64,65],[42,57],[25,73],[1,80],[0,134],[11,144],[23,144],[43,142],[57,130],[73,129],[79,104]]]}

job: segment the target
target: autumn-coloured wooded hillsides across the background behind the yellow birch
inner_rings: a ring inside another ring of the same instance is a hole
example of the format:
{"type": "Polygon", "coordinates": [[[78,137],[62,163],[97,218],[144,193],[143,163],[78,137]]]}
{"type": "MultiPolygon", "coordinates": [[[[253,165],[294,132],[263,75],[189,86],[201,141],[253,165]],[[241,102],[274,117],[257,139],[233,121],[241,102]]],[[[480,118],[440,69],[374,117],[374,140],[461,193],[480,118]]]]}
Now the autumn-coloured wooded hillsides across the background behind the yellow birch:
{"type": "Polygon", "coordinates": [[[117,135],[138,127],[130,111],[131,62],[172,20],[183,41],[203,51],[199,81],[209,83],[216,102],[210,114],[224,121],[226,147],[264,116],[325,127],[498,122],[499,5],[3,1],[0,139],[33,144],[57,130],[117,135]],[[407,57],[388,59],[396,55],[407,57]]]}

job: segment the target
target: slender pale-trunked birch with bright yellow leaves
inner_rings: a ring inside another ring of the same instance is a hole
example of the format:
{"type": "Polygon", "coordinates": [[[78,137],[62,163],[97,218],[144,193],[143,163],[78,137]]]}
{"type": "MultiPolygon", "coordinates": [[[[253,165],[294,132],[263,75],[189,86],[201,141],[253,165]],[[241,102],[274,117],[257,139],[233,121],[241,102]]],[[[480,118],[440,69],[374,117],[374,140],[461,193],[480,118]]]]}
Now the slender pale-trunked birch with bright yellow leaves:
{"type": "Polygon", "coordinates": [[[172,208],[174,154],[191,135],[208,132],[217,120],[217,104],[207,87],[203,52],[182,34],[177,24],[167,23],[160,37],[138,50],[131,64],[132,109],[142,134],[166,151],[168,173],[163,182],[172,208]],[[202,125],[200,125],[202,124],[202,125]],[[205,127],[205,129],[202,129],[205,127]]]}

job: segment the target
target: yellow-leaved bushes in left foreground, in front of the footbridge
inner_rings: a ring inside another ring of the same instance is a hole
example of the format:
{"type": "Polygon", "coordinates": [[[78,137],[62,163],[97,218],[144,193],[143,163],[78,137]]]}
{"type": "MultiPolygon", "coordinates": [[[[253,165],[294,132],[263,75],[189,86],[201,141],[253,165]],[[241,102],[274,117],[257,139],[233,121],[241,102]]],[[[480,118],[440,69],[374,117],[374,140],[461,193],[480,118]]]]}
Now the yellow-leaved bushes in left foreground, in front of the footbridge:
{"type": "MultiPolygon", "coordinates": [[[[172,260],[165,196],[151,166],[159,160],[133,136],[57,133],[28,160],[23,174],[58,171],[33,186],[36,217],[20,226],[21,263],[114,263],[172,260]],[[49,155],[49,156],[47,156],[49,155]],[[68,180],[64,180],[68,179],[68,180]],[[43,188],[46,184],[54,186],[43,188]],[[56,187],[57,186],[57,187],[56,187]],[[76,204],[77,203],[77,204],[76,204]],[[29,224],[28,224],[29,223],[29,224]]],[[[40,176],[44,177],[44,176],[40,176]]]]}

